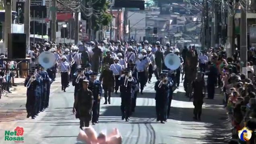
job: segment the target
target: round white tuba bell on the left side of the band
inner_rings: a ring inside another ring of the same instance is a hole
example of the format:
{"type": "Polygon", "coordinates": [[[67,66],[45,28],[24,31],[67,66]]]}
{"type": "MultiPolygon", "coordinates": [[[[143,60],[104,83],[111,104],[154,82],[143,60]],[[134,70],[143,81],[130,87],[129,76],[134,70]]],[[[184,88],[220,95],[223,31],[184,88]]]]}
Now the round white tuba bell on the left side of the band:
{"type": "Polygon", "coordinates": [[[50,51],[43,51],[38,57],[38,62],[43,68],[52,68],[56,64],[55,56],[50,51]]]}

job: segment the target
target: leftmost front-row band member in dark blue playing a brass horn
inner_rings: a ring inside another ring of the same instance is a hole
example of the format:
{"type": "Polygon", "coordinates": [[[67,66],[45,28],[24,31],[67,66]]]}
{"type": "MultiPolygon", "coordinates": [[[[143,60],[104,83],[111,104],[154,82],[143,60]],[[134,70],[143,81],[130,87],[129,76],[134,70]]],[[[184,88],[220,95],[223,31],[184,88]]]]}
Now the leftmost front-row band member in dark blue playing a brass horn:
{"type": "Polygon", "coordinates": [[[27,103],[26,103],[27,118],[31,117],[32,119],[35,119],[35,114],[36,114],[35,90],[38,84],[34,74],[35,74],[35,70],[30,70],[29,76],[26,78],[24,83],[24,86],[27,87],[27,103]]]}

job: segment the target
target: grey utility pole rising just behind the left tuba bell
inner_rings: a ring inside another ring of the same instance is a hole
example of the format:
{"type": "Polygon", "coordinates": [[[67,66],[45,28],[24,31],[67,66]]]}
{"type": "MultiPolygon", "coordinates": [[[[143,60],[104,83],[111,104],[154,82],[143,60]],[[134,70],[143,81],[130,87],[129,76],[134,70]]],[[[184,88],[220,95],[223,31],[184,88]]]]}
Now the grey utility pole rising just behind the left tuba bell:
{"type": "Polygon", "coordinates": [[[56,41],[56,23],[57,23],[57,1],[56,0],[52,0],[52,29],[51,29],[51,38],[52,41],[56,41]]]}

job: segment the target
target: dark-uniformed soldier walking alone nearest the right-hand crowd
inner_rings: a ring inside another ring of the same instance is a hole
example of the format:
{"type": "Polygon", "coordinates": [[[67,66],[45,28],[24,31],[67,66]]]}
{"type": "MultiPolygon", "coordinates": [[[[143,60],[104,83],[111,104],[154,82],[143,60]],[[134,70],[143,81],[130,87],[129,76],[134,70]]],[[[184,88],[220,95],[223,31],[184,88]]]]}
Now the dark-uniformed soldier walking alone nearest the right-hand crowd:
{"type": "Polygon", "coordinates": [[[205,82],[202,78],[202,73],[197,73],[196,79],[192,82],[192,91],[193,94],[193,105],[194,105],[194,117],[195,120],[201,120],[202,113],[202,104],[204,103],[203,99],[206,95],[205,82]],[[204,90],[204,94],[203,94],[204,90]]]}

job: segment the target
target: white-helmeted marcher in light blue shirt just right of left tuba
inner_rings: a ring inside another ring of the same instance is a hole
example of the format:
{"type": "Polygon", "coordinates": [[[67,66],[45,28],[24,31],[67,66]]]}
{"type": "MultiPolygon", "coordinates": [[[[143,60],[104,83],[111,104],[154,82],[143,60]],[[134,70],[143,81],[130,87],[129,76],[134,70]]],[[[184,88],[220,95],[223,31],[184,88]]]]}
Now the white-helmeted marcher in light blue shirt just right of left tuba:
{"type": "Polygon", "coordinates": [[[61,90],[66,92],[66,87],[68,86],[68,72],[70,72],[70,65],[66,62],[66,56],[62,56],[60,62],[60,73],[61,73],[61,90]]]}

